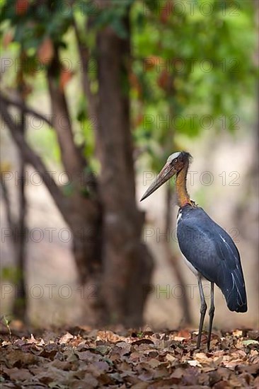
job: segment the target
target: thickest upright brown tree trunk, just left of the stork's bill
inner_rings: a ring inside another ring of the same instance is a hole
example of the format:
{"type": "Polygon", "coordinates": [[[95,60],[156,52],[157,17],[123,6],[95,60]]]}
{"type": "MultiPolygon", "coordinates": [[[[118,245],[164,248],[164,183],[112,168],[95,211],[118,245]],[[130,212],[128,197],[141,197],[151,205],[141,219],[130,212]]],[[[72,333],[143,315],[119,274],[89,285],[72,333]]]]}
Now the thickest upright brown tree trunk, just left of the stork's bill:
{"type": "Polygon", "coordinates": [[[103,299],[110,323],[142,324],[153,260],[141,241],[144,215],[137,210],[129,126],[127,38],[106,27],[98,33],[98,144],[103,203],[103,299]]]}

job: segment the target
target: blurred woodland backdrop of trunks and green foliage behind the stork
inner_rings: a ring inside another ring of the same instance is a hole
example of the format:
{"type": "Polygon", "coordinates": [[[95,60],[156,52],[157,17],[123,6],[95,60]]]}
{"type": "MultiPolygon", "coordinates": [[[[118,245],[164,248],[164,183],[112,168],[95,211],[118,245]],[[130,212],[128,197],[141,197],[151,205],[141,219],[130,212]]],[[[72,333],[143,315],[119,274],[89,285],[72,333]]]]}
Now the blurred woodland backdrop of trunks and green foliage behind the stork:
{"type": "Polygon", "coordinates": [[[142,205],[143,229],[132,173],[138,199],[188,149],[192,197],[238,236],[251,310],[229,325],[258,323],[257,14],[256,1],[1,2],[2,313],[36,325],[193,324],[173,182],[142,205]]]}

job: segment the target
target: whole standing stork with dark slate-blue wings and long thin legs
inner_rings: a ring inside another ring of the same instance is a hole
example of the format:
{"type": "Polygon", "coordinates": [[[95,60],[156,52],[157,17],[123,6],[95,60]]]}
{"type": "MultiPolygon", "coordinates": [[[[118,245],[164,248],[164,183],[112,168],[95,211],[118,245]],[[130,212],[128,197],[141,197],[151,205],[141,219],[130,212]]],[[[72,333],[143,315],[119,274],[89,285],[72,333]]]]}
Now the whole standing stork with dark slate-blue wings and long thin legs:
{"type": "Polygon", "coordinates": [[[200,291],[200,326],[197,348],[200,349],[202,327],[207,310],[202,277],[211,282],[209,332],[207,348],[209,350],[214,318],[214,284],[219,286],[229,310],[246,312],[246,287],[243,279],[238,249],[228,233],[215,223],[195,202],[190,199],[186,189],[186,177],[190,163],[190,154],[185,151],[173,153],[156,180],[144,193],[141,201],[157,190],[164,182],[176,174],[176,193],[178,206],[177,238],[180,251],[188,267],[197,277],[200,291]]]}

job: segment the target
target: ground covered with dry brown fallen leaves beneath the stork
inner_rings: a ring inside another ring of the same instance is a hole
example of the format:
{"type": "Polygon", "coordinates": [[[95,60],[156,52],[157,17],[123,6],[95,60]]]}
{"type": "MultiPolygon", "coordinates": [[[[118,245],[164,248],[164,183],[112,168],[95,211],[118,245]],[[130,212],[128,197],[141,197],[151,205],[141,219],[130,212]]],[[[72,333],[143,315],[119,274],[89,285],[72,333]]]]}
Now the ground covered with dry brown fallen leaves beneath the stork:
{"type": "Polygon", "coordinates": [[[0,386],[26,389],[259,388],[259,331],[207,336],[73,327],[8,331],[1,326],[0,386]]]}

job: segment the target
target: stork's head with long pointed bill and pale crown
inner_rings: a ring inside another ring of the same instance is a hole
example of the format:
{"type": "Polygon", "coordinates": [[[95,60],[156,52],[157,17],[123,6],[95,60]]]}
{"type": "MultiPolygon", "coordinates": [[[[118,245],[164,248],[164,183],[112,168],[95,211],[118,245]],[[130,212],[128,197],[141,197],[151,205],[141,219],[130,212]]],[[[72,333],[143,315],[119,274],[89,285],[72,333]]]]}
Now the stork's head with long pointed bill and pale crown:
{"type": "Polygon", "coordinates": [[[161,187],[161,185],[173,177],[173,175],[179,173],[185,165],[189,164],[190,158],[190,154],[185,151],[178,151],[177,153],[168,156],[166,165],[163,166],[161,172],[156,177],[156,180],[151,183],[140,201],[142,202],[146,197],[149,197],[151,193],[155,192],[155,190],[161,187]]]}

